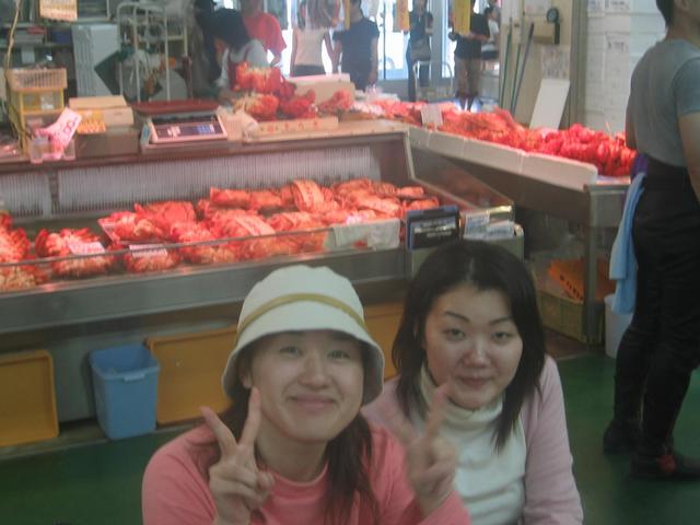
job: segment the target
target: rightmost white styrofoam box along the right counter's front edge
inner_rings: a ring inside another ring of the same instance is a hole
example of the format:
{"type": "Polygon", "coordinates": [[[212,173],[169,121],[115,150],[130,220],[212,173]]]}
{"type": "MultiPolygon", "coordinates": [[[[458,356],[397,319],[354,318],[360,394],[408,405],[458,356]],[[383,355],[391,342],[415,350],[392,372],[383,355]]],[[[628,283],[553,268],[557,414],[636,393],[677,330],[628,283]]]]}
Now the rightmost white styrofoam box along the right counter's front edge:
{"type": "Polygon", "coordinates": [[[579,191],[583,191],[585,185],[594,185],[598,175],[593,164],[560,156],[527,153],[522,162],[522,175],[579,191]]]}

